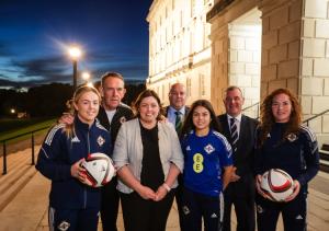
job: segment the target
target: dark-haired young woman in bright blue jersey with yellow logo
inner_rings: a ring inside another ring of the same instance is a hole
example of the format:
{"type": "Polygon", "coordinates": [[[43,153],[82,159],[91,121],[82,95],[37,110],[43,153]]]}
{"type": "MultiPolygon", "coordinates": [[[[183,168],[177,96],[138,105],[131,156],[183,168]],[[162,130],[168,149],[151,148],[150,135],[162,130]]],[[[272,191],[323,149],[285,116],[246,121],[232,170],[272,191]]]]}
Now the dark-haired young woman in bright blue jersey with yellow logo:
{"type": "Polygon", "coordinates": [[[195,101],[181,135],[184,153],[183,230],[217,231],[223,221],[222,193],[232,171],[231,147],[219,132],[212,104],[195,101]]]}

